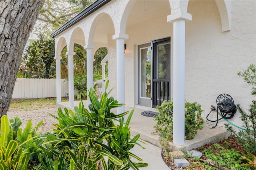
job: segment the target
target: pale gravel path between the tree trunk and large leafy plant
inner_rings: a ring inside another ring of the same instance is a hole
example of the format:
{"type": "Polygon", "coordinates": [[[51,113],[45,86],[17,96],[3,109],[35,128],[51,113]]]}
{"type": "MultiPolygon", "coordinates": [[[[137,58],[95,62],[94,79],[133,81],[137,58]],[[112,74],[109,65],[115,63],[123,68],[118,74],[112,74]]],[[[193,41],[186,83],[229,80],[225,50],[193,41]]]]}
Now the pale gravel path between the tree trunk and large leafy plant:
{"type": "Polygon", "coordinates": [[[54,108],[44,108],[40,110],[32,111],[15,111],[15,109],[9,109],[7,112],[8,119],[13,119],[14,117],[19,117],[22,121],[21,128],[24,128],[29,119],[32,120],[33,126],[36,126],[40,121],[43,121],[44,125],[40,127],[39,131],[49,132],[54,128],[53,123],[58,123],[58,120],[51,117],[48,113],[57,116],[57,107],[54,108]]]}

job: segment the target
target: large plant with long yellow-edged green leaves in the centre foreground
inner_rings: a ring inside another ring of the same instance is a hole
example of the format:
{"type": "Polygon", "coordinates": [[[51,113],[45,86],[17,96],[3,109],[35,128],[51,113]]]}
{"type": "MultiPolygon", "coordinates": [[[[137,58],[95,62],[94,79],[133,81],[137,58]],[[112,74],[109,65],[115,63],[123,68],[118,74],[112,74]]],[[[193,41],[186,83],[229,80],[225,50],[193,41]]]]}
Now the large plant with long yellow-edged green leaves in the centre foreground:
{"type": "MultiPolygon", "coordinates": [[[[108,81],[106,83],[106,88],[108,81]]],[[[100,164],[105,170],[128,169],[133,167],[145,167],[146,163],[134,163],[130,156],[140,158],[128,152],[139,138],[139,135],[130,139],[130,128],[128,127],[133,111],[130,113],[126,123],[123,116],[128,112],[115,115],[111,109],[120,107],[113,97],[108,98],[109,93],[104,93],[100,101],[94,96],[90,89],[89,98],[92,104],[88,109],[84,108],[82,101],[79,107],[71,110],[58,109],[58,124],[53,124],[53,134],[48,134],[44,148],[46,151],[39,154],[39,161],[44,168],[60,169],[60,162],[72,165],[74,169],[99,169],[100,164]],[[118,120],[119,118],[119,120],[118,120]],[[116,126],[114,121],[119,121],[116,126]],[[107,143],[106,143],[107,142],[107,143]],[[106,162],[104,156],[108,157],[106,162]],[[60,160],[60,161],[57,161],[60,160]],[[55,162],[55,163],[54,163],[55,162]],[[65,163],[66,162],[66,163],[65,163]],[[58,166],[58,167],[57,167],[58,166]],[[57,168],[56,168],[57,167],[57,168]]]]}

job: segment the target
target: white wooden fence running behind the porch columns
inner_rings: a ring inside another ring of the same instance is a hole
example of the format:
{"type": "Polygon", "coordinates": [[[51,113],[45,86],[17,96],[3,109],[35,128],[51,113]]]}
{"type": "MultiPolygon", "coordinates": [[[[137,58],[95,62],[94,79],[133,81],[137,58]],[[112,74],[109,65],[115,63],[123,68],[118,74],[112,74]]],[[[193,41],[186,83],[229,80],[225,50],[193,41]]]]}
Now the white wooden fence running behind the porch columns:
{"type": "MultiPolygon", "coordinates": [[[[93,85],[96,83],[98,83],[97,94],[100,98],[105,89],[105,82],[98,80],[93,85]]],[[[77,94],[76,91],[74,91],[74,94],[77,94]]],[[[68,81],[65,81],[65,79],[61,79],[61,96],[68,96],[68,81]]],[[[56,79],[16,79],[12,99],[46,97],[56,97],[56,79]]]]}

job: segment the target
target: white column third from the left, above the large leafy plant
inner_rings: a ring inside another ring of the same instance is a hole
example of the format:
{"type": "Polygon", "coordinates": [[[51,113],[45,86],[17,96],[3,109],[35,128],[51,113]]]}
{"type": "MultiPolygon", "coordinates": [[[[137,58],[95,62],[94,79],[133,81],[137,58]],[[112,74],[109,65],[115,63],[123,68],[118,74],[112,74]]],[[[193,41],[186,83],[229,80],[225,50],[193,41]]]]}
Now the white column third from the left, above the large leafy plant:
{"type": "Polygon", "coordinates": [[[86,49],[86,61],[87,61],[87,107],[91,104],[89,99],[89,91],[90,88],[93,88],[93,49],[94,45],[84,45],[84,49],[86,49]]]}

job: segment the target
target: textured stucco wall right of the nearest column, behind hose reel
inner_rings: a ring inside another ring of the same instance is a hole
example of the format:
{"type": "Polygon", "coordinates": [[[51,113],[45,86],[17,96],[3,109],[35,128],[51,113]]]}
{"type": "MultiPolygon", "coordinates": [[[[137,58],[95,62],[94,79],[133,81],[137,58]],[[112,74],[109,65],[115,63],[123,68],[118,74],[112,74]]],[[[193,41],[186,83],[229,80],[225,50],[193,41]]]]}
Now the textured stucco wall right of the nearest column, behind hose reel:
{"type": "MultiPolygon", "coordinates": [[[[215,1],[190,1],[192,22],[186,23],[186,99],[205,110],[228,93],[242,107],[255,99],[237,72],[256,61],[255,1],[231,1],[231,30],[221,32],[215,1]]],[[[239,123],[240,114],[232,119],[239,123]]],[[[223,123],[224,121],[221,121],[223,123]]]]}

